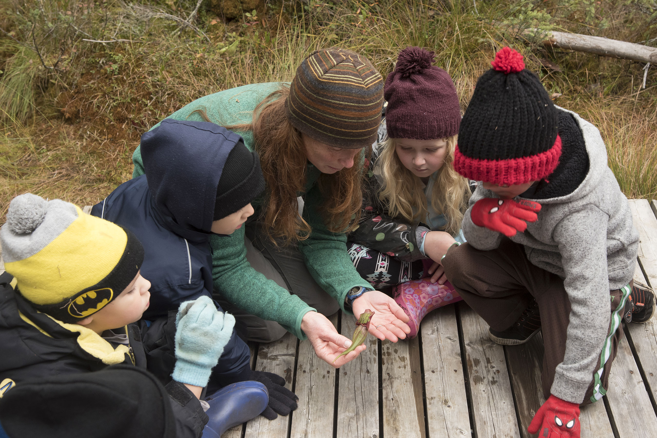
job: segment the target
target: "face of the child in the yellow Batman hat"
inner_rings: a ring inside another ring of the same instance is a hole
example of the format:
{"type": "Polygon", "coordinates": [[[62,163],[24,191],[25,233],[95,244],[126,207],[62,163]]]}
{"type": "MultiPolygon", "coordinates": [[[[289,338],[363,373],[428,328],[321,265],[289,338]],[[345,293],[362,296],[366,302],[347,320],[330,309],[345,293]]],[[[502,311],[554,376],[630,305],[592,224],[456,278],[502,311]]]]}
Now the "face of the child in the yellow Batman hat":
{"type": "Polygon", "coordinates": [[[78,324],[101,334],[105,330],[120,328],[141,318],[150,304],[150,282],[137,273],[134,280],[101,310],[93,313],[78,324]]]}

